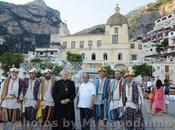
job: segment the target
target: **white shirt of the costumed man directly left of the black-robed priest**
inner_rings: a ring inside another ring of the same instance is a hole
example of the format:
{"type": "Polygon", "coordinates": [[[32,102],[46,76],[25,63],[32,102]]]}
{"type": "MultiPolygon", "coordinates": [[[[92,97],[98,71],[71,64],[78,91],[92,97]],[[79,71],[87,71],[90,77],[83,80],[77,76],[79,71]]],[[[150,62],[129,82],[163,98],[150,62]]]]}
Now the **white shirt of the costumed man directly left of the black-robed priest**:
{"type": "Polygon", "coordinates": [[[54,106],[54,101],[52,97],[52,80],[44,80],[46,84],[46,91],[44,93],[44,101],[46,103],[46,106],[54,106]]]}

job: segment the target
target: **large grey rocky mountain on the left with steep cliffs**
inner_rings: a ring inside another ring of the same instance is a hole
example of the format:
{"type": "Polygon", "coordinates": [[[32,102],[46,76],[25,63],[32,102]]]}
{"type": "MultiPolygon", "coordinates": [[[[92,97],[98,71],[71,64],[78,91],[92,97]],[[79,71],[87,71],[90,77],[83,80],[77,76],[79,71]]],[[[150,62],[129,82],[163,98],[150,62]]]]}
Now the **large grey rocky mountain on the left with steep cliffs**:
{"type": "Polygon", "coordinates": [[[59,34],[60,26],[67,27],[60,12],[43,0],[24,5],[0,2],[0,36],[13,51],[27,52],[35,46],[48,46],[50,34],[59,34]]]}

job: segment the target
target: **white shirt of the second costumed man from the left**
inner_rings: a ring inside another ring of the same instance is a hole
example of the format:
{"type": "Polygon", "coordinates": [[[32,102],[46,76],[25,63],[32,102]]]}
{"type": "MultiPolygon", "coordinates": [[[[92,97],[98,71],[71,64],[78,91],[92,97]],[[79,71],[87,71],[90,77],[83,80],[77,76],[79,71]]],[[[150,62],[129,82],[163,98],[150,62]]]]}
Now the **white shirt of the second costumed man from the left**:
{"type": "Polygon", "coordinates": [[[29,79],[29,87],[25,95],[25,107],[32,106],[33,108],[35,108],[36,100],[34,100],[34,96],[33,96],[34,84],[35,84],[35,80],[29,79]]]}

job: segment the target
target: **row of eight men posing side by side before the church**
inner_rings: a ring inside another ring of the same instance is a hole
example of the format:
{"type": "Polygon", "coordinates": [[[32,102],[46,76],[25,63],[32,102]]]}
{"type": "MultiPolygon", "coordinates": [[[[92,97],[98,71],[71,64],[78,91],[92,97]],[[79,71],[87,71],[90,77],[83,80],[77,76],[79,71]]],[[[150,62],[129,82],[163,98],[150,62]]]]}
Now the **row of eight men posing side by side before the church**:
{"type": "Polygon", "coordinates": [[[99,76],[94,83],[89,81],[89,74],[84,73],[83,83],[76,93],[66,69],[62,70],[62,78],[55,81],[50,69],[44,71],[42,78],[37,78],[36,69],[31,69],[29,77],[19,79],[19,70],[11,68],[9,77],[1,84],[1,125],[12,122],[16,129],[19,123],[27,122],[29,125],[24,125],[25,129],[32,130],[33,122],[40,121],[39,129],[46,127],[47,122],[50,125],[46,129],[75,130],[74,99],[77,97],[82,130],[90,130],[92,118],[96,130],[101,122],[104,130],[108,129],[109,122],[116,128],[117,121],[128,130],[143,130],[143,93],[133,80],[133,74],[127,72],[122,76],[116,71],[115,79],[111,80],[105,71],[104,68],[98,70],[99,76]],[[38,116],[39,108],[41,116],[38,116]]]}

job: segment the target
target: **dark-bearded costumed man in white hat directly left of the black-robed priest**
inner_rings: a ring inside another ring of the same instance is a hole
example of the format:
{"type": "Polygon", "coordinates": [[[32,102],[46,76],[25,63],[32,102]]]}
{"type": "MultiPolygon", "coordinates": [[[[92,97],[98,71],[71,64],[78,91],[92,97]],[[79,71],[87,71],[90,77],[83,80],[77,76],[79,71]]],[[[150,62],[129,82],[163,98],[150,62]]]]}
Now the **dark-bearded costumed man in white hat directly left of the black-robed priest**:
{"type": "Polygon", "coordinates": [[[55,81],[52,77],[52,70],[46,69],[44,71],[44,78],[41,79],[40,85],[40,105],[42,105],[41,119],[44,122],[53,121],[54,100],[53,100],[53,86],[55,81]]]}

